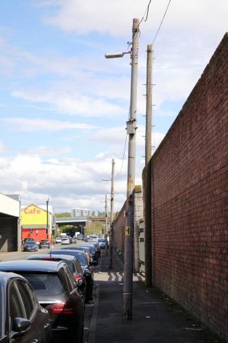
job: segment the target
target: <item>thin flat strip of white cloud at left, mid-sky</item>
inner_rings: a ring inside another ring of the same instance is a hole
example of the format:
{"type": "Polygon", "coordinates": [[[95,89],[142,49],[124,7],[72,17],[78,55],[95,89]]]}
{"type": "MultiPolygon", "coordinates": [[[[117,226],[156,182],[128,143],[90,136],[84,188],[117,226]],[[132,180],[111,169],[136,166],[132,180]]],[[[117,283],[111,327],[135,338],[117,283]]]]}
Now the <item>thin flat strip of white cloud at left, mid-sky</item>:
{"type": "Polygon", "coordinates": [[[99,128],[87,123],[73,123],[71,121],[59,121],[55,119],[42,119],[42,118],[2,118],[0,121],[3,125],[8,126],[10,130],[35,132],[35,131],[58,131],[66,128],[77,130],[90,130],[99,128]]]}

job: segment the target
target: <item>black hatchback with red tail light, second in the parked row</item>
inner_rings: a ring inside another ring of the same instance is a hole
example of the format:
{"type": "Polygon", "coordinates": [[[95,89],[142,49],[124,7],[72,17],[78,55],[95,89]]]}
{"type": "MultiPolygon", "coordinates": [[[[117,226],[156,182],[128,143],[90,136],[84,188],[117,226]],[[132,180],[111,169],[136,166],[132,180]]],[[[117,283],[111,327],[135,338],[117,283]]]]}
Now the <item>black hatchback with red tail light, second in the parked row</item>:
{"type": "Polygon", "coordinates": [[[0,263],[0,270],[16,272],[29,281],[38,302],[49,311],[53,342],[82,342],[84,301],[66,263],[7,261],[0,263]]]}

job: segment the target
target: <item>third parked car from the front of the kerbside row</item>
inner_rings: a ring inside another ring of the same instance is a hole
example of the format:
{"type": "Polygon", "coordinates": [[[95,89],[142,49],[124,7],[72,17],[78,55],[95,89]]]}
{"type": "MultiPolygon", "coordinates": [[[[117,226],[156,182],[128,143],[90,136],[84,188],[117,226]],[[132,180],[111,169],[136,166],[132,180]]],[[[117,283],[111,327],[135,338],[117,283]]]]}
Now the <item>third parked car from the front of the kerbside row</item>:
{"type": "Polygon", "coordinates": [[[27,260],[40,260],[40,261],[64,261],[68,267],[71,269],[71,272],[73,273],[73,276],[75,278],[75,281],[77,283],[77,287],[79,287],[81,293],[83,294],[83,300],[85,302],[86,300],[86,279],[84,278],[84,274],[81,270],[81,265],[79,265],[79,262],[77,261],[76,257],[71,255],[51,255],[51,252],[49,255],[30,255],[27,257],[27,260]]]}

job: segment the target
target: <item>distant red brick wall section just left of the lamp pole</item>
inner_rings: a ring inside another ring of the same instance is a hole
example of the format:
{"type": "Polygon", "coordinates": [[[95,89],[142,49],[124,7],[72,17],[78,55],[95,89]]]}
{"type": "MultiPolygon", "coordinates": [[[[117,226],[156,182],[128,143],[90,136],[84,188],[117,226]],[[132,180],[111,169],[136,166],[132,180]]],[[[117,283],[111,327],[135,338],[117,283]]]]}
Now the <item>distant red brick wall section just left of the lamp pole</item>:
{"type": "Polygon", "coordinates": [[[121,250],[124,254],[125,251],[125,217],[126,202],[123,205],[121,211],[118,213],[118,217],[113,224],[113,243],[116,249],[121,250]]]}

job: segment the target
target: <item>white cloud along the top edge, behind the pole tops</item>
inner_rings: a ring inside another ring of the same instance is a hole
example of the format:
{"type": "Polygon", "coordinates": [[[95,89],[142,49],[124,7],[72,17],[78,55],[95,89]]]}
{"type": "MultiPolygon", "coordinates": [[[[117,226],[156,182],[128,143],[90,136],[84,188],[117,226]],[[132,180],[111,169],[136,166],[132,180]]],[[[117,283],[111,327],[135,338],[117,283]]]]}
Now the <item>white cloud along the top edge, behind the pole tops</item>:
{"type": "MultiPolygon", "coordinates": [[[[53,1],[58,5],[58,13],[45,16],[45,22],[60,27],[65,32],[88,34],[110,34],[112,36],[130,36],[132,19],[142,18],[147,8],[148,0],[134,1],[115,0],[62,0],[53,1]],[[85,20],[86,19],[86,20],[85,20]]],[[[142,34],[151,34],[151,41],[160,25],[168,0],[152,2],[147,22],[142,21],[142,34]]],[[[208,34],[207,27],[210,25],[216,33],[225,32],[227,29],[226,0],[179,0],[171,1],[162,30],[175,30],[195,34],[203,32],[208,34]]]]}

